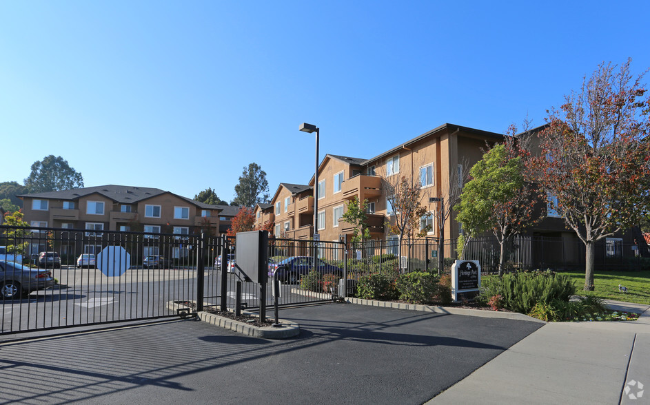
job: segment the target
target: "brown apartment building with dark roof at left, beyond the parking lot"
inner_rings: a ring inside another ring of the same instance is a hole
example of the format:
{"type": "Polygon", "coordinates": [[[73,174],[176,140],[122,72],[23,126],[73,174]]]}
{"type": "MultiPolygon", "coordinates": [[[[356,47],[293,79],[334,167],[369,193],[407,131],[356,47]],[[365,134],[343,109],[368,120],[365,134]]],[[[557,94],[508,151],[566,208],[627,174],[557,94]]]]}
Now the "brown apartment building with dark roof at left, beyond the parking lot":
{"type": "MultiPolygon", "coordinates": [[[[209,205],[161,189],[103,185],[63,191],[23,194],[24,220],[32,227],[100,231],[176,233],[201,231],[219,235],[230,227],[238,207],[209,205]]],[[[32,244],[30,253],[46,250],[32,244]]],[[[94,245],[83,248],[94,252],[94,245]]],[[[65,251],[62,252],[65,254],[65,251]]]]}

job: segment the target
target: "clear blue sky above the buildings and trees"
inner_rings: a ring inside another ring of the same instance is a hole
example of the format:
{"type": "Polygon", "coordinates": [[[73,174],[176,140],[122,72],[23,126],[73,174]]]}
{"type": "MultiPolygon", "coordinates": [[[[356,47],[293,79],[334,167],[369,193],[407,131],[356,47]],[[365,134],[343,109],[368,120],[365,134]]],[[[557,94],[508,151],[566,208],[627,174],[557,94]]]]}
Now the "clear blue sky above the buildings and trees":
{"type": "MultiPolygon", "coordinates": [[[[234,198],[443,123],[505,133],[602,61],[650,67],[645,1],[0,0],[0,181],[63,156],[86,187],[234,198]]],[[[645,81],[648,83],[648,80],[645,81]]]]}

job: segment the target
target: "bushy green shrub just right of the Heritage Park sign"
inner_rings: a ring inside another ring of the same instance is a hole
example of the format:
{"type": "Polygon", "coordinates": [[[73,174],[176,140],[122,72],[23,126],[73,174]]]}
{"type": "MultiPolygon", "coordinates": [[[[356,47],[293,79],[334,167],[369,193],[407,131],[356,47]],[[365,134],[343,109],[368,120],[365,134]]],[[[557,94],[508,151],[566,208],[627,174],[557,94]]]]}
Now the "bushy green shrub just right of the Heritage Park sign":
{"type": "Polygon", "coordinates": [[[530,313],[535,304],[551,304],[553,300],[569,301],[576,286],[566,274],[551,271],[522,271],[505,274],[502,278],[482,280],[480,302],[501,295],[505,309],[530,313]]]}

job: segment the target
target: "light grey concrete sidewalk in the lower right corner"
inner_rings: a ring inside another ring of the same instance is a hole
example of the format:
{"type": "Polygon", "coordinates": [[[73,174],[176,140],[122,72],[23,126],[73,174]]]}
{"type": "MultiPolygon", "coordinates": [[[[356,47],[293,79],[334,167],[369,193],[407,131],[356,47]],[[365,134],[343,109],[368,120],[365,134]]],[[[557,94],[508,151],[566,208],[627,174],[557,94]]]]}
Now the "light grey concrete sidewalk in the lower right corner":
{"type": "Polygon", "coordinates": [[[641,316],[546,324],[427,404],[650,404],[649,306],[607,304],[641,316]]]}

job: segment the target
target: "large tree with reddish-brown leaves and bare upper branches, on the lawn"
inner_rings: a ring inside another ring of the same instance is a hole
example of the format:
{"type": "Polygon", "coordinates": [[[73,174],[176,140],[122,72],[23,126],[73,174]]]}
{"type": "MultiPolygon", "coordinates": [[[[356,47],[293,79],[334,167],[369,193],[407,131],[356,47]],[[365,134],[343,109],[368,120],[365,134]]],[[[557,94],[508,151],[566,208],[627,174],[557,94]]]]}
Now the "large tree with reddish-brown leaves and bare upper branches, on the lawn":
{"type": "Polygon", "coordinates": [[[630,62],[618,72],[601,63],[580,92],[549,111],[533,160],[549,207],[585,245],[586,291],[593,291],[595,243],[638,224],[650,205],[650,99],[630,62]]]}

